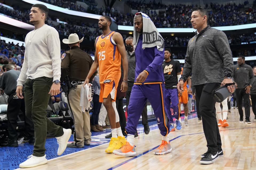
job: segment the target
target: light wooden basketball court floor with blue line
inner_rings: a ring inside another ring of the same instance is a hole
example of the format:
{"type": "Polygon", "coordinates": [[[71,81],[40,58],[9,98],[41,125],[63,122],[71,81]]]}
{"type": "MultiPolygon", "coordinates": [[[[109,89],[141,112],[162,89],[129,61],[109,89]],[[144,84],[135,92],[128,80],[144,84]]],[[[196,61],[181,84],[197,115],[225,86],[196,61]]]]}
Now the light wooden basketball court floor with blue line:
{"type": "Polygon", "coordinates": [[[239,123],[238,110],[231,108],[227,120],[229,127],[219,127],[224,157],[209,165],[199,164],[200,155],[207,151],[207,147],[202,122],[198,123],[197,118],[193,118],[188,120],[189,126],[185,127],[183,123],[180,131],[169,134],[172,151],[166,155],[153,154],[162,139],[156,129],[148,135],[139,134],[135,139],[135,157],[106,154],[108,144],[105,144],[50,159],[45,165],[27,169],[256,169],[256,121],[252,111],[250,120],[251,125],[239,123]]]}

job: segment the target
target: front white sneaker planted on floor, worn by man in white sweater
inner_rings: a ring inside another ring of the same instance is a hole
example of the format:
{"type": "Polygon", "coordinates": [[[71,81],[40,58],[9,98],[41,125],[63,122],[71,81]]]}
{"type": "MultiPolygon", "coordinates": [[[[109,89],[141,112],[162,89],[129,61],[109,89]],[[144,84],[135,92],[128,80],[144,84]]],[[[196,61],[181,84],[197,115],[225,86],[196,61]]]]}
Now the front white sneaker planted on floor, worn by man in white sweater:
{"type": "Polygon", "coordinates": [[[25,162],[22,162],[21,164],[19,164],[20,168],[31,168],[31,167],[36,167],[39,165],[43,165],[46,164],[48,162],[48,160],[45,158],[45,156],[34,156],[34,155],[30,155],[28,156],[27,160],[25,162]]]}

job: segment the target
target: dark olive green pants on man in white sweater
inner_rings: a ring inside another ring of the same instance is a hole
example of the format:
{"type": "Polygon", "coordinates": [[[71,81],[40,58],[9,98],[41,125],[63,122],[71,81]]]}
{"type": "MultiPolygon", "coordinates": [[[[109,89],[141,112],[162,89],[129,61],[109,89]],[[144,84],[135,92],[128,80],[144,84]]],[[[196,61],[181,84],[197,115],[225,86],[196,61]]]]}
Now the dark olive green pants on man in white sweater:
{"type": "MultiPolygon", "coordinates": [[[[45,155],[45,141],[47,132],[54,137],[63,135],[63,128],[55,125],[46,117],[46,109],[50,99],[50,88],[53,78],[39,77],[27,79],[25,82],[25,107],[26,116],[34,122],[35,143],[34,156],[45,155]]],[[[57,152],[57,151],[56,151],[57,152]]]]}

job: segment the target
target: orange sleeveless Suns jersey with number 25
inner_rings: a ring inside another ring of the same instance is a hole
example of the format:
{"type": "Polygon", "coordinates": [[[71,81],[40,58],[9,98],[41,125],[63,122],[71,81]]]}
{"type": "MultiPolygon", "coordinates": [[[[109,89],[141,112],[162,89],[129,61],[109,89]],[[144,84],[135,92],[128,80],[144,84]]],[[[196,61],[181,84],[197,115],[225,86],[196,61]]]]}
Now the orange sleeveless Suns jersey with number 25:
{"type": "Polygon", "coordinates": [[[96,54],[99,62],[99,83],[103,84],[104,80],[111,80],[118,86],[121,77],[121,54],[118,51],[116,43],[112,39],[114,31],[96,39],[96,54]]]}

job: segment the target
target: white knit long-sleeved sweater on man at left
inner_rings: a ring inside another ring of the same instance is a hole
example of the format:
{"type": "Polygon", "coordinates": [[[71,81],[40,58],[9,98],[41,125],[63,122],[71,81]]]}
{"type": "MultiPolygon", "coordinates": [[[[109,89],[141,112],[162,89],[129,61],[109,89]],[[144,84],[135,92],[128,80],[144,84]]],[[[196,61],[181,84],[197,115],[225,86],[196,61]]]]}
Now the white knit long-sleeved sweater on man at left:
{"type": "Polygon", "coordinates": [[[61,46],[58,31],[49,26],[30,31],[25,38],[26,50],[17,86],[26,79],[48,77],[59,80],[61,77],[61,46]]]}

